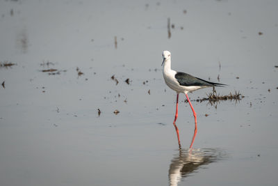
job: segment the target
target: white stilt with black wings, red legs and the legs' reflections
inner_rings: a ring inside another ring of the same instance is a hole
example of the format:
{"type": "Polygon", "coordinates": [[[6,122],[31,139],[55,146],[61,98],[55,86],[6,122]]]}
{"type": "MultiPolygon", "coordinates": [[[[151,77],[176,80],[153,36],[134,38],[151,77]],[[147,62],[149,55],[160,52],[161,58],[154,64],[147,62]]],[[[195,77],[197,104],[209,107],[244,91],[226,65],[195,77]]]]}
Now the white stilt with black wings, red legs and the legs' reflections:
{"type": "Polygon", "coordinates": [[[214,86],[226,86],[226,84],[218,84],[213,82],[208,82],[204,79],[200,79],[199,77],[194,77],[184,72],[177,72],[171,69],[171,53],[167,50],[162,52],[163,61],[161,66],[163,66],[163,77],[165,80],[165,84],[169,86],[173,91],[177,92],[177,104],[176,104],[176,114],[174,116],[173,125],[177,132],[177,138],[179,142],[179,148],[181,148],[181,142],[179,139],[179,129],[176,125],[176,121],[178,118],[178,104],[179,104],[179,93],[184,93],[186,95],[186,99],[190,104],[190,107],[193,111],[193,116],[195,118],[195,132],[193,135],[193,139],[190,144],[190,148],[192,148],[195,136],[197,134],[197,116],[196,112],[193,109],[193,106],[188,98],[188,93],[192,93],[193,91],[197,91],[201,88],[214,87],[214,86]]]}

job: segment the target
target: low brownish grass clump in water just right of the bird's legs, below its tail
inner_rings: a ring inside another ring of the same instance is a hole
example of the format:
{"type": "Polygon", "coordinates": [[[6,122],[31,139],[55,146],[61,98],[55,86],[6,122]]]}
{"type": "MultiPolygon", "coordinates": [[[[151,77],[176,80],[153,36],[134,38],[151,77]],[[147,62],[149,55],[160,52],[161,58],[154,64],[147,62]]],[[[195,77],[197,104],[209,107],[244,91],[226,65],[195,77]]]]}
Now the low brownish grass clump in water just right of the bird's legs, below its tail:
{"type": "MultiPolygon", "coordinates": [[[[239,91],[235,91],[234,93],[229,93],[229,95],[220,95],[220,93],[217,93],[215,88],[213,87],[213,91],[211,93],[206,94],[206,98],[202,99],[197,99],[193,100],[195,102],[203,102],[203,101],[208,101],[211,105],[213,104],[218,104],[220,101],[225,101],[225,100],[242,100],[245,96],[241,95],[239,91]]],[[[186,100],[188,102],[188,100],[186,100]]]]}

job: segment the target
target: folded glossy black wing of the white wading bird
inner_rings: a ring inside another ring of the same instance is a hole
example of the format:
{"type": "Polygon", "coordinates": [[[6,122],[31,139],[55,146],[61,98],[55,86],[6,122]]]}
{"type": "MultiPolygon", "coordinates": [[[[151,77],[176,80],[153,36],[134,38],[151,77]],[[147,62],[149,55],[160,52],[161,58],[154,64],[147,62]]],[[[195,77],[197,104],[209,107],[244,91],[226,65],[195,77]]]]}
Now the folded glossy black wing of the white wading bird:
{"type": "Polygon", "coordinates": [[[218,84],[213,82],[208,82],[204,79],[188,75],[184,72],[177,72],[174,77],[179,82],[181,86],[225,86],[226,84],[218,84]]]}

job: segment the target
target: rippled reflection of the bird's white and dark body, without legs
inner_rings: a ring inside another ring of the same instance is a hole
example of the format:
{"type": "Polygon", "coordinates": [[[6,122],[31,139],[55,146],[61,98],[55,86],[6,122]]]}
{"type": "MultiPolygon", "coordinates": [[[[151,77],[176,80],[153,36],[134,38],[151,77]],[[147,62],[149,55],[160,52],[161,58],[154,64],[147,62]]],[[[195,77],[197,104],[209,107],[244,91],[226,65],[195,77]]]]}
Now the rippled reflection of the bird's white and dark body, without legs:
{"type": "Polygon", "coordinates": [[[206,164],[222,160],[226,153],[220,148],[182,149],[174,155],[169,169],[169,185],[178,183],[206,164]]]}

